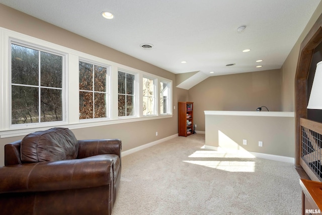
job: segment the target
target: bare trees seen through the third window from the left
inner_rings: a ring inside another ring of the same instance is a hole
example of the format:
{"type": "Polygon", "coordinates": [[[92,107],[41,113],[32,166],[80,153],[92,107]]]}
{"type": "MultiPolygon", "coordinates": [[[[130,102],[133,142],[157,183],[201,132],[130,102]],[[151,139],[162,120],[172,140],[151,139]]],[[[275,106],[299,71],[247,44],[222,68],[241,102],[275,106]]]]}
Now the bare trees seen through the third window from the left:
{"type": "Polygon", "coordinates": [[[118,71],[118,116],[135,114],[135,75],[118,71]]]}

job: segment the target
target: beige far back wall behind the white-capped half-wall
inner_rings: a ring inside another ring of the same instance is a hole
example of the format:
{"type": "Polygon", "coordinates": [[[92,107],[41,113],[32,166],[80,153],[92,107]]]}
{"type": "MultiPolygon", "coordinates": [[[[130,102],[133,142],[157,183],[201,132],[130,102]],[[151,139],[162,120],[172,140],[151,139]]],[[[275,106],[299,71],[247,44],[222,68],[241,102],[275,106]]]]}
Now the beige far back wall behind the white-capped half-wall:
{"type": "Polygon", "coordinates": [[[205,131],[205,110],[280,111],[280,76],[280,69],[214,76],[189,89],[196,130],[205,131]]]}

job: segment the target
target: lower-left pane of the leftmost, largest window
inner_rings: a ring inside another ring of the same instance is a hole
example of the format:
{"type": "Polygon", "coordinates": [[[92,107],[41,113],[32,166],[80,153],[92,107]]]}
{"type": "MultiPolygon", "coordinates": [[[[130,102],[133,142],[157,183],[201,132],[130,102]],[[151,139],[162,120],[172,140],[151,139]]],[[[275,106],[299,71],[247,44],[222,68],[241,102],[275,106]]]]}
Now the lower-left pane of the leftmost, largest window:
{"type": "Polygon", "coordinates": [[[38,88],[12,86],[11,90],[12,124],[38,122],[38,88]]]}

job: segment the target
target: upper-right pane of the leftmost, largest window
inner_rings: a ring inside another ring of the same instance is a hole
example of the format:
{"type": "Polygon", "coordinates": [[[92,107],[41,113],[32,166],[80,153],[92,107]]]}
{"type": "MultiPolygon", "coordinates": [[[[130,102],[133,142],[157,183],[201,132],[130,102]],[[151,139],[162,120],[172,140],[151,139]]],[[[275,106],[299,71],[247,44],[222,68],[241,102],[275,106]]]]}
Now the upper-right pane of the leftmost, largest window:
{"type": "Polygon", "coordinates": [[[62,56],[40,52],[41,86],[61,88],[62,56]]]}

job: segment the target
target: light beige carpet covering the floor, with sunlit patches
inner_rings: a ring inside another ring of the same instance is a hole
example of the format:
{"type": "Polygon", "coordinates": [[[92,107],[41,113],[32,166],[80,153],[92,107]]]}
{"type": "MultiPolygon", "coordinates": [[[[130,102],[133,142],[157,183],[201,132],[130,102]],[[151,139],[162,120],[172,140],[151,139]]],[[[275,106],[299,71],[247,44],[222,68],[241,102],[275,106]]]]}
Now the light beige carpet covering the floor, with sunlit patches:
{"type": "Polygon", "coordinates": [[[301,214],[293,164],[204,144],[193,134],[123,157],[112,214],[301,214]]]}

